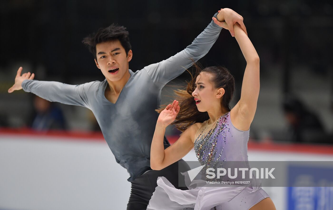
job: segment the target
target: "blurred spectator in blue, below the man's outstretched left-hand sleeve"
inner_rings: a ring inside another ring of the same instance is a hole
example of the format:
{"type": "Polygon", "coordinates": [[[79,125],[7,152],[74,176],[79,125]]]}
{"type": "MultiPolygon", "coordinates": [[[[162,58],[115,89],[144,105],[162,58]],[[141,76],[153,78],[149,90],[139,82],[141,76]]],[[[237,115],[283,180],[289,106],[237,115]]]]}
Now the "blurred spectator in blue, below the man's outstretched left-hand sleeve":
{"type": "Polygon", "coordinates": [[[31,117],[30,127],[38,131],[52,129],[66,129],[62,110],[38,96],[34,96],[34,113],[31,117]]]}

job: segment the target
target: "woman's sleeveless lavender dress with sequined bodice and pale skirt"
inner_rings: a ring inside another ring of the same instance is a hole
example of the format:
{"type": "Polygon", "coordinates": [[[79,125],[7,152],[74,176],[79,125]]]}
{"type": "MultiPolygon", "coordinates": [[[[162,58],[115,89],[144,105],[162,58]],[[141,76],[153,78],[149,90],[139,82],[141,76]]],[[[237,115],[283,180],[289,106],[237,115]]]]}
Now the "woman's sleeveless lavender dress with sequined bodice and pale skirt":
{"type": "MultiPolygon", "coordinates": [[[[208,120],[203,122],[201,128],[206,127],[207,122],[208,120]]],[[[201,128],[198,132],[201,132],[201,128]]],[[[230,163],[228,161],[237,161],[237,167],[249,168],[247,156],[249,131],[235,128],[228,112],[219,117],[211,130],[201,132],[194,141],[194,151],[200,164],[204,165],[203,170],[230,163]]],[[[249,209],[262,199],[269,197],[261,188],[260,180],[255,179],[255,176],[250,184],[219,184],[216,187],[216,184],[207,184],[207,179],[191,182],[187,172],[183,175],[189,190],[176,189],[165,177],[159,177],[158,186],[147,210],[249,209]],[[195,188],[191,187],[193,183],[197,185],[195,188]]]]}

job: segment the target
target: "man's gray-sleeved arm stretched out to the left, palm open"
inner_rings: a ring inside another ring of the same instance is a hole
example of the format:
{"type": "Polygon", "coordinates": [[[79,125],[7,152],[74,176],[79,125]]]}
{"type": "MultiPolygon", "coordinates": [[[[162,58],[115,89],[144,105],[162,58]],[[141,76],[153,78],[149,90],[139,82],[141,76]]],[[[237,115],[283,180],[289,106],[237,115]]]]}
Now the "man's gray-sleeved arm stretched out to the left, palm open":
{"type": "Polygon", "coordinates": [[[15,84],[8,93],[23,89],[50,102],[60,102],[68,105],[80,105],[89,108],[87,93],[91,83],[68,85],[60,82],[33,80],[34,74],[22,73],[22,67],[17,71],[15,84]]]}

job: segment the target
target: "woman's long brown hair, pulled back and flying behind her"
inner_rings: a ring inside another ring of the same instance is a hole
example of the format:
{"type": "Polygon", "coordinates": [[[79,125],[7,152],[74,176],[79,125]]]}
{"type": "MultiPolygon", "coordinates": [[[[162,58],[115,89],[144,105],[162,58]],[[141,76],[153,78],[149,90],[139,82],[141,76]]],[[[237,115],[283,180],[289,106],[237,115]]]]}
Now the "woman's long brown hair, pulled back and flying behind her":
{"type": "MultiPolygon", "coordinates": [[[[211,83],[214,88],[223,88],[225,93],[221,99],[221,106],[225,107],[228,111],[231,110],[230,102],[232,100],[233,92],[235,89],[235,80],[229,70],[224,67],[212,66],[202,69],[200,64],[197,64],[193,61],[193,66],[195,67],[195,75],[193,76],[190,71],[186,71],[191,76],[191,81],[187,82],[186,90],[177,89],[173,92],[176,94],[176,100],[179,101],[180,111],[175,119],[175,127],[180,131],[185,131],[189,126],[196,122],[204,122],[209,119],[208,112],[200,112],[192,96],[193,91],[195,90],[195,81],[196,77],[201,72],[207,72],[212,75],[211,83]]],[[[161,105],[159,109],[156,109],[158,113],[161,113],[165,109],[166,105],[161,105]]]]}

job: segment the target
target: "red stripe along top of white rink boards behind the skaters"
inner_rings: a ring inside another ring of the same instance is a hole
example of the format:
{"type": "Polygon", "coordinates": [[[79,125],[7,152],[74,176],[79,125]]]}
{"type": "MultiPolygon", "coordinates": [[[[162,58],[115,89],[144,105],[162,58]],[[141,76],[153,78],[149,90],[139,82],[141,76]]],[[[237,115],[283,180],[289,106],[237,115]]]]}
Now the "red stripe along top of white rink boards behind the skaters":
{"type": "MultiPolygon", "coordinates": [[[[0,135],[16,135],[26,137],[59,137],[59,140],[89,140],[105,141],[101,132],[84,131],[64,131],[51,130],[46,132],[34,131],[28,128],[0,128],[0,135]]],[[[170,144],[177,141],[179,136],[167,136],[170,144]]],[[[262,143],[250,141],[247,144],[248,150],[272,151],[272,152],[292,152],[292,153],[314,153],[314,154],[333,154],[333,145],[329,144],[301,144],[301,143],[262,143]]]]}

